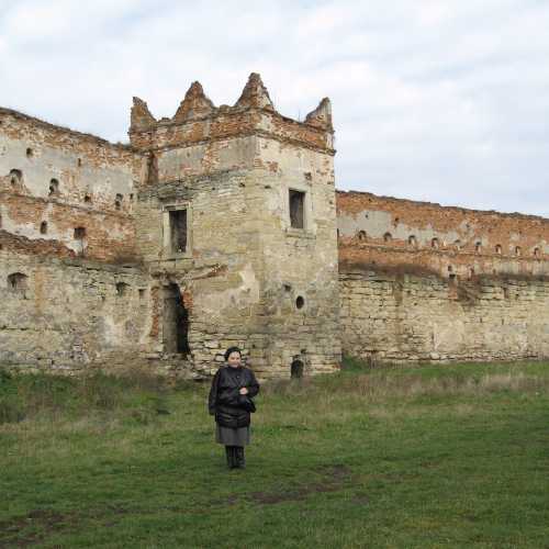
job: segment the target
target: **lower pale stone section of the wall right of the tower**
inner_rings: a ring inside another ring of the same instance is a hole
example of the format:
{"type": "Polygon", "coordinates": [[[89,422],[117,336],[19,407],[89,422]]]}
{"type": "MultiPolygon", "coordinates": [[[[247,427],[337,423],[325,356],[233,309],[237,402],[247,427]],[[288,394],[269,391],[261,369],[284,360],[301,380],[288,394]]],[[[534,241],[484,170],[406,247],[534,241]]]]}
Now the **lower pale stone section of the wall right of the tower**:
{"type": "Polygon", "coordinates": [[[340,273],[341,345],[380,361],[514,360],[549,356],[549,281],[348,268],[340,273]]]}

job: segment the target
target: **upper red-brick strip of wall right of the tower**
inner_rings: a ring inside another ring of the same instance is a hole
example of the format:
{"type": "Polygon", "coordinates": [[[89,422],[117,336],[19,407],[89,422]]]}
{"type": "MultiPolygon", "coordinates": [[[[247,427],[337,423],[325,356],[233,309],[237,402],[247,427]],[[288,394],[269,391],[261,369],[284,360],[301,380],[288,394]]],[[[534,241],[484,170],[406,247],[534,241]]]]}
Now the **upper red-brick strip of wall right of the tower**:
{"type": "Polygon", "coordinates": [[[549,274],[549,220],[337,193],[339,260],[423,270],[467,280],[479,274],[549,274]]]}

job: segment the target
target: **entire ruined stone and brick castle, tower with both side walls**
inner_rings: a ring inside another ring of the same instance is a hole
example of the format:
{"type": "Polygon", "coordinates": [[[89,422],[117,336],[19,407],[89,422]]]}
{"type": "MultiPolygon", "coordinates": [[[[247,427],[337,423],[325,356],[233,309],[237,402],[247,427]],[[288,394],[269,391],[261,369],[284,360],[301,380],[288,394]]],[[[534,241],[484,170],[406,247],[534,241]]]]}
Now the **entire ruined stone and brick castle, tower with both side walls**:
{"type": "Polygon", "coordinates": [[[258,75],[130,144],[0,109],[0,365],[262,378],[380,361],[549,356],[549,221],[338,192],[324,99],[278,113],[258,75]]]}

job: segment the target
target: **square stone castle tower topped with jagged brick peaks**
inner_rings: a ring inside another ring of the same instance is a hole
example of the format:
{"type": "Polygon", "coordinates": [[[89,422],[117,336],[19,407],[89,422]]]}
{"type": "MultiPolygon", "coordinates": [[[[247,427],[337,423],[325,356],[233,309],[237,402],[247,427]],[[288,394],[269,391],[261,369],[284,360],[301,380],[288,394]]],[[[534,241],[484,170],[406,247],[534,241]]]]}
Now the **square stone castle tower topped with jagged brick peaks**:
{"type": "Polygon", "coordinates": [[[137,250],[156,281],[158,352],[211,370],[238,345],[264,378],[337,368],[333,136],[328,99],[290,120],[257,74],[233,107],[199,82],[171,119],[134,99],[131,143],[148,155],[137,250]]]}

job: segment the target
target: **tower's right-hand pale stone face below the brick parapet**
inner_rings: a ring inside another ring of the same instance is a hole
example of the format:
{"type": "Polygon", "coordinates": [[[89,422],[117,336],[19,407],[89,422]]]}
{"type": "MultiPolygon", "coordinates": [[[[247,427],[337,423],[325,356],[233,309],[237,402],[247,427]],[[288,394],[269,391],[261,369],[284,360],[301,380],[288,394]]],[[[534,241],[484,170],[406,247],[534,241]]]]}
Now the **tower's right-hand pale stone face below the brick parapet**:
{"type": "Polygon", "coordinates": [[[292,362],[305,373],[330,372],[340,362],[339,288],[333,154],[260,139],[264,299],[268,352],[276,376],[292,362]],[[304,226],[292,227],[289,193],[304,195],[304,226]]]}

